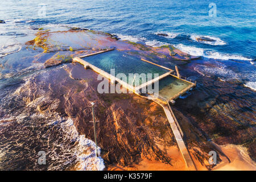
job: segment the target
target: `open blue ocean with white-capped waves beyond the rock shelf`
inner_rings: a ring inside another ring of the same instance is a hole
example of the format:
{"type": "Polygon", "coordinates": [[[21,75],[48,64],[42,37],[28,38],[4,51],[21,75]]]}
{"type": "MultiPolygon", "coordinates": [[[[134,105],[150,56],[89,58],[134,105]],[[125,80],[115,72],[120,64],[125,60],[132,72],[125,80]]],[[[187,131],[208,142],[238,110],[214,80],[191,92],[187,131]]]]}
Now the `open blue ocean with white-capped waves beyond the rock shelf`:
{"type": "MultiPolygon", "coordinates": [[[[209,16],[211,1],[8,1],[2,2],[0,56],[16,52],[32,35],[31,27],[85,27],[119,35],[150,46],[174,44],[208,59],[234,60],[245,64],[255,85],[255,1],[214,1],[216,14],[209,16]],[[167,37],[156,35],[166,32],[167,37]],[[215,42],[197,42],[207,36],[215,42]],[[247,65],[249,64],[249,65],[247,65]]],[[[224,63],[225,64],[225,63],[224,63]]],[[[237,67],[240,67],[238,65],[237,67]]],[[[229,72],[220,68],[218,72],[229,72]]],[[[201,72],[205,72],[202,69],[201,72]]],[[[209,71],[214,74],[216,71],[209,71]]],[[[208,74],[208,72],[205,72],[208,74]]]]}

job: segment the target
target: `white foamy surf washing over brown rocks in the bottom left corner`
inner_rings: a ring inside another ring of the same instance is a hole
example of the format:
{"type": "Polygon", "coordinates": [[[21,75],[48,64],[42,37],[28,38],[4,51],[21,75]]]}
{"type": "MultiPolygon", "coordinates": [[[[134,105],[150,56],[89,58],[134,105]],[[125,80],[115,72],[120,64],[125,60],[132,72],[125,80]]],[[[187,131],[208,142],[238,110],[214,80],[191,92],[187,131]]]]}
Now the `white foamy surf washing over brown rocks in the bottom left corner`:
{"type": "Polygon", "coordinates": [[[72,118],[37,109],[40,103],[52,101],[50,107],[56,110],[59,100],[51,100],[41,90],[41,97],[24,103],[22,95],[30,92],[30,80],[1,98],[0,170],[103,170],[104,160],[96,158],[95,143],[79,135],[72,118]],[[44,166],[37,163],[39,151],[46,152],[44,166]]]}

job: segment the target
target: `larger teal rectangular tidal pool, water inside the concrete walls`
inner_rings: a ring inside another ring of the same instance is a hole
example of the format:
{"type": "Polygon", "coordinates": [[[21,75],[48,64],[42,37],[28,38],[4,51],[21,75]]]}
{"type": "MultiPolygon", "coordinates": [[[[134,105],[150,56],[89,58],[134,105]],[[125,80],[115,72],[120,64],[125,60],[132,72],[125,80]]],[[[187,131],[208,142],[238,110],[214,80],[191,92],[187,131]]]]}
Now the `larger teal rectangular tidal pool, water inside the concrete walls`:
{"type": "Polygon", "coordinates": [[[127,83],[133,83],[130,85],[139,86],[143,84],[145,81],[140,77],[135,77],[134,75],[129,75],[138,73],[147,74],[151,73],[152,77],[146,77],[146,81],[150,81],[155,77],[163,75],[164,73],[170,72],[168,69],[160,68],[154,64],[150,64],[142,61],[138,57],[131,56],[125,52],[121,52],[118,50],[109,51],[100,53],[98,55],[84,57],[82,60],[87,61],[88,63],[102,69],[103,71],[111,74],[111,69],[115,70],[114,76],[117,76],[118,73],[124,73],[126,75],[126,79],[122,79],[127,83]],[[154,75],[157,73],[158,75],[154,75]],[[138,80],[137,80],[138,79],[138,80]],[[133,82],[133,80],[135,80],[133,82]]]}

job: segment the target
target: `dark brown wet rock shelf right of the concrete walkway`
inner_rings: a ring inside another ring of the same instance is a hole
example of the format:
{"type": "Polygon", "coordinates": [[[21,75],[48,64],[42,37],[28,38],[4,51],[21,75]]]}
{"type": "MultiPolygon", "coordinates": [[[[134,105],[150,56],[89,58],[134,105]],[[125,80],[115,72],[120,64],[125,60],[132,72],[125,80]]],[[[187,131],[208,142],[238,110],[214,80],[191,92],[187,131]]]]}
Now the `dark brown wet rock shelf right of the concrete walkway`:
{"type": "MultiPolygon", "coordinates": [[[[248,148],[251,159],[255,161],[255,123],[250,118],[250,112],[238,114],[241,108],[251,110],[254,100],[246,96],[250,96],[252,91],[242,90],[243,88],[238,90],[241,83],[218,81],[214,77],[197,78],[197,81],[205,88],[197,86],[187,100],[177,100],[174,107],[190,118],[193,126],[200,129],[213,142],[219,145],[243,145],[248,148]],[[205,92],[208,89],[214,92],[205,92]],[[234,97],[239,102],[234,101],[234,97]],[[229,110],[232,117],[225,113],[228,107],[236,108],[229,110]]],[[[189,127],[182,128],[186,130],[189,127]]]]}

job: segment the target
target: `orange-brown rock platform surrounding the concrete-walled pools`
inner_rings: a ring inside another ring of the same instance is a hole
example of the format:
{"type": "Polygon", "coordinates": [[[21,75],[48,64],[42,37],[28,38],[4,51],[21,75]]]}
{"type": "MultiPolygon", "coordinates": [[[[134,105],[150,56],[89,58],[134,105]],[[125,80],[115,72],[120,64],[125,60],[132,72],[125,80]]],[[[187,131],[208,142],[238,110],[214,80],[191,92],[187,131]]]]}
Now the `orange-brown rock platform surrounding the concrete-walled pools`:
{"type": "MultiPolygon", "coordinates": [[[[100,121],[97,123],[97,138],[106,169],[118,166],[123,169],[142,169],[138,165],[148,164],[150,161],[155,161],[154,164],[167,165],[164,166],[167,169],[175,169],[171,166],[178,162],[168,151],[176,151],[176,142],[162,107],[134,94],[98,94],[97,73],[71,62],[75,56],[108,48],[116,48],[118,51],[125,51],[158,64],[168,62],[169,67],[184,65],[200,57],[191,56],[172,46],[153,48],[120,41],[117,36],[104,32],[76,28],[56,32],[39,31],[36,38],[26,45],[28,49],[42,50],[42,53],[36,56],[34,63],[43,63],[46,69],[56,66],[47,71],[47,74],[32,78],[20,90],[23,100],[27,103],[35,101],[44,93],[47,99],[38,103],[37,112],[56,112],[73,118],[79,134],[93,140],[93,127],[88,122],[92,119],[88,106],[93,101],[97,105],[96,118],[100,121]],[[92,39],[81,39],[87,34],[92,39]],[[64,37],[65,39],[62,39],[64,37]],[[77,41],[81,42],[77,43],[77,41]],[[88,44],[81,46],[84,42],[88,44]]],[[[229,159],[213,142],[234,143],[234,139],[240,139],[245,135],[245,131],[253,132],[253,129],[248,127],[240,131],[240,127],[234,128],[232,123],[222,123],[224,126],[220,127],[217,124],[217,116],[212,118],[213,122],[210,122],[210,119],[201,122],[201,117],[207,117],[205,113],[200,112],[201,108],[195,110],[195,103],[198,101],[196,98],[204,96],[201,96],[198,90],[193,91],[192,94],[196,96],[195,100],[192,99],[193,102],[190,104],[186,100],[179,100],[174,106],[174,113],[185,133],[185,142],[192,158],[196,161],[196,167],[214,169],[216,166],[210,166],[208,163],[209,151],[217,151],[219,162],[229,159]],[[216,133],[220,131],[225,133],[227,130],[239,135],[235,137],[229,132],[230,135],[227,137],[214,138],[216,133]]],[[[245,141],[240,140],[237,144],[245,141]]],[[[246,147],[251,158],[255,160],[255,143],[250,141],[246,147]]]]}

